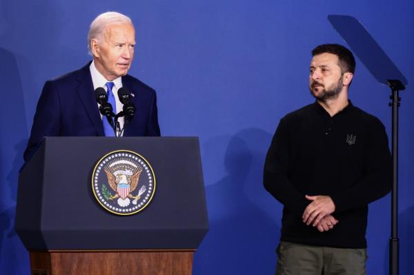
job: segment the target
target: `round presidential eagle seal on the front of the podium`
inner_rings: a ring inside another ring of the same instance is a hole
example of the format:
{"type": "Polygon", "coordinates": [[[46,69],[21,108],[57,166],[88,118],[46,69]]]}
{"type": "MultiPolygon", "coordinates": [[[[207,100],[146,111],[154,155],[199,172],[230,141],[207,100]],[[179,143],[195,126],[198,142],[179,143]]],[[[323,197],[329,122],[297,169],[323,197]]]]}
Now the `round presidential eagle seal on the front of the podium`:
{"type": "Polygon", "coordinates": [[[155,174],[143,156],[127,150],[102,157],[92,173],[92,190],[103,208],[118,215],[144,210],[155,192],[155,174]]]}

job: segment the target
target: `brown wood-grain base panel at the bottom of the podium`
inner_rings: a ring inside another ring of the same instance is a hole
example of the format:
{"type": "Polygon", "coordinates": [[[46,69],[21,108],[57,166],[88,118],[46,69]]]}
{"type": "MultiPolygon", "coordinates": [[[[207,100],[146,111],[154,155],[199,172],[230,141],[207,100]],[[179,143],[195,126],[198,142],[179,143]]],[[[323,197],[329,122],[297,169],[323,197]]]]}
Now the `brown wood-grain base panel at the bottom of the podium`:
{"type": "Polygon", "coordinates": [[[32,275],[191,275],[194,251],[30,252],[32,275]]]}

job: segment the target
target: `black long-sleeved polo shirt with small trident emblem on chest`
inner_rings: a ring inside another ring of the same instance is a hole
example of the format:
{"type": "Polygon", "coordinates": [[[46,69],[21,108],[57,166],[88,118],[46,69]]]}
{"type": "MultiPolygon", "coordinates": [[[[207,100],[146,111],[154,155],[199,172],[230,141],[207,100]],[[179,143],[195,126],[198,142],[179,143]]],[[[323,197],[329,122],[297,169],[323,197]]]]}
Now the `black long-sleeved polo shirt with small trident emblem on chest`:
{"type": "Polygon", "coordinates": [[[282,241],[366,247],[368,203],[391,190],[392,161],[381,121],[349,104],[331,117],[319,103],[281,119],[264,186],[284,205],[282,241]],[[302,222],[308,195],[331,196],[339,223],[328,232],[302,222]]]}

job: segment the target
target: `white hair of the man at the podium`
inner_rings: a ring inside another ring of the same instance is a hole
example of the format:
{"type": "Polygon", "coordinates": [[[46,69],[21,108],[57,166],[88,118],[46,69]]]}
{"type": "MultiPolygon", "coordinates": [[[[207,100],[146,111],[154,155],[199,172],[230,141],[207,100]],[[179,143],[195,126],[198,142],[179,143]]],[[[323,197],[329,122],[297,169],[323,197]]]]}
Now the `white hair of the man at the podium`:
{"type": "Polygon", "coordinates": [[[121,24],[121,23],[131,23],[132,20],[124,14],[119,12],[103,12],[97,16],[97,18],[90,23],[89,32],[88,32],[88,50],[89,53],[92,54],[92,50],[90,48],[90,41],[92,39],[97,39],[98,41],[101,40],[103,31],[105,30],[106,26],[112,24],[121,24]]]}

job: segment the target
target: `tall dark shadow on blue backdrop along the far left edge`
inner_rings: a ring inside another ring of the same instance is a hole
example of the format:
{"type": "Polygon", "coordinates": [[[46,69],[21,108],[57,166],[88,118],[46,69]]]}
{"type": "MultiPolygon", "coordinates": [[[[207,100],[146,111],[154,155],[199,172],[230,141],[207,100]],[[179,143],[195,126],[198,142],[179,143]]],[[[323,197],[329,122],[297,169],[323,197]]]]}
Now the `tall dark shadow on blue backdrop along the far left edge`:
{"type": "Polygon", "coordinates": [[[0,83],[5,91],[0,117],[0,274],[28,274],[28,252],[14,231],[17,179],[27,144],[23,89],[14,54],[0,48],[0,60],[0,83]]]}

